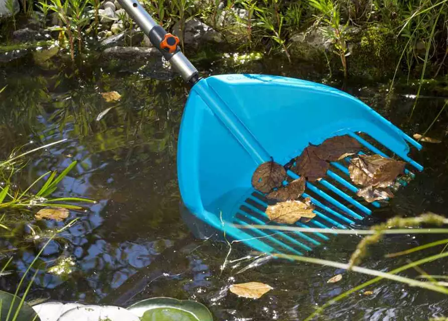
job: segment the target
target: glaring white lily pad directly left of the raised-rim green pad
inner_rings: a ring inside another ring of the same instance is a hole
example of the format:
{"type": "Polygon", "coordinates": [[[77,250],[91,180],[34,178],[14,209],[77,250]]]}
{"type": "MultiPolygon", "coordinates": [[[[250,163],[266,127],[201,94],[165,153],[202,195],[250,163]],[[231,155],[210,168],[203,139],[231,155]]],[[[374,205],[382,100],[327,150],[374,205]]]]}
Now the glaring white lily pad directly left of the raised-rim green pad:
{"type": "Polygon", "coordinates": [[[140,321],[123,307],[113,305],[84,305],[63,313],[57,321],[140,321]]]}

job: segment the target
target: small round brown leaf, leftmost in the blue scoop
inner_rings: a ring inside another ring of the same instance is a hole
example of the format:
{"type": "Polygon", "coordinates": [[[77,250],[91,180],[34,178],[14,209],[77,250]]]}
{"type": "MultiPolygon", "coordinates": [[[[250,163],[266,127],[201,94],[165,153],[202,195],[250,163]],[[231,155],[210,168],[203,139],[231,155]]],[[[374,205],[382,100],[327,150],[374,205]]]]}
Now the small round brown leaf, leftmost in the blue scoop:
{"type": "Polygon", "coordinates": [[[266,162],[257,167],[252,175],[252,186],[261,193],[269,193],[273,188],[281,186],[286,179],[283,166],[275,162],[266,162]]]}

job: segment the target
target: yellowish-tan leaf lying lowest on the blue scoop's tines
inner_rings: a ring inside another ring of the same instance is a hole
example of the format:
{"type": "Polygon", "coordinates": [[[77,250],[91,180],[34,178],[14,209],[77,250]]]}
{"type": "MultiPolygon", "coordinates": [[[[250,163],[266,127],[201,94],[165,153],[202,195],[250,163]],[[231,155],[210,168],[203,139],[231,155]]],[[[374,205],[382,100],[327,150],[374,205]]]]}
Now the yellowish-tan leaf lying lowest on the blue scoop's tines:
{"type": "Polygon", "coordinates": [[[313,213],[315,207],[311,204],[311,200],[305,199],[305,203],[301,201],[286,201],[275,205],[270,205],[266,209],[266,215],[273,222],[280,224],[294,224],[301,217],[314,218],[313,213]]]}

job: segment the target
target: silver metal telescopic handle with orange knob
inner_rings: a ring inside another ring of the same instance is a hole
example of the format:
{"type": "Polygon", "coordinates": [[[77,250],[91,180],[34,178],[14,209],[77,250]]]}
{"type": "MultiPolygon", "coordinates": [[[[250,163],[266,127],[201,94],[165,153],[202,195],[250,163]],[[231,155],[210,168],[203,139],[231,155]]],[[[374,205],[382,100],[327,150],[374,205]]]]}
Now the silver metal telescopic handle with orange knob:
{"type": "Polygon", "coordinates": [[[150,38],[151,43],[162,52],[164,57],[181,74],[182,78],[192,84],[197,82],[198,71],[187,59],[187,57],[185,57],[182,51],[180,51],[178,47],[178,40],[174,48],[170,47],[172,48],[171,50],[168,48],[162,48],[162,43],[166,40],[167,36],[174,36],[167,34],[163,27],[158,25],[150,14],[144,10],[138,0],[118,0],[118,2],[126,13],[141,28],[145,35],[150,38]]]}

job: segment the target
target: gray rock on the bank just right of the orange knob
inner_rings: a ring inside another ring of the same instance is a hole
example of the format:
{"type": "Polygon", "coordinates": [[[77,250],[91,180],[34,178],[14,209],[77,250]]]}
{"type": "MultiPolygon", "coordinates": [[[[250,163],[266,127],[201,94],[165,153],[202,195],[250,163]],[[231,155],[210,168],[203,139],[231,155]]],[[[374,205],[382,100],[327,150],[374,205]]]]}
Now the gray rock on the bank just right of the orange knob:
{"type": "MultiPolygon", "coordinates": [[[[180,27],[180,23],[176,23],[173,27],[173,34],[182,39],[180,27]]],[[[183,38],[185,46],[195,48],[203,42],[221,43],[223,41],[220,33],[196,18],[190,19],[185,23],[183,38]]]]}

